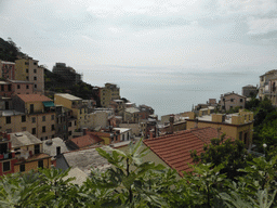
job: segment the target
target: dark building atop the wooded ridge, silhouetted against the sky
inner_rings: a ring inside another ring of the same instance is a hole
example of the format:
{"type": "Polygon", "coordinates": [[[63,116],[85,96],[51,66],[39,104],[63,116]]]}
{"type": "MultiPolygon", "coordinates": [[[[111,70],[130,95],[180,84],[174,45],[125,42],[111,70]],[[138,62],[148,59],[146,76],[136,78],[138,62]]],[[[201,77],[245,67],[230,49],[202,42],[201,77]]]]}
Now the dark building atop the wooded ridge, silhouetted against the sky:
{"type": "Polygon", "coordinates": [[[63,77],[66,86],[76,84],[82,80],[81,75],[72,67],[66,66],[65,63],[56,63],[52,72],[63,77]]]}

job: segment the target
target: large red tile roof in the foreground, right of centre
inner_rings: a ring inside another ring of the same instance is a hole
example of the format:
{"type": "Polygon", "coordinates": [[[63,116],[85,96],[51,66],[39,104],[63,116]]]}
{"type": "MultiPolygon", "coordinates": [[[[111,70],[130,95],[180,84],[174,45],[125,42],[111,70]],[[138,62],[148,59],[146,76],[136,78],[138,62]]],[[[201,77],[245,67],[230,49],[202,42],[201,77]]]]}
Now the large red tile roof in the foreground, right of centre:
{"type": "Polygon", "coordinates": [[[183,171],[192,171],[188,166],[188,164],[194,164],[190,151],[196,150],[198,154],[203,153],[203,144],[209,144],[211,139],[217,138],[217,129],[207,127],[179,131],[143,142],[169,167],[177,170],[179,174],[183,177],[183,171]]]}

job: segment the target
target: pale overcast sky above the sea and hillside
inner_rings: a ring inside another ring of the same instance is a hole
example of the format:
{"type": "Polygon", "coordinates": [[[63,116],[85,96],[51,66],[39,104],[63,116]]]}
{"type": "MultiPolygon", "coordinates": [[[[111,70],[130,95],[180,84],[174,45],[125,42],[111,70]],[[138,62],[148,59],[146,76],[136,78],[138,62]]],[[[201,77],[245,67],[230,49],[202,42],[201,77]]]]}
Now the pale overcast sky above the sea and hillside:
{"type": "Polygon", "coordinates": [[[276,67],[276,0],[0,0],[0,37],[52,68],[276,67]]]}

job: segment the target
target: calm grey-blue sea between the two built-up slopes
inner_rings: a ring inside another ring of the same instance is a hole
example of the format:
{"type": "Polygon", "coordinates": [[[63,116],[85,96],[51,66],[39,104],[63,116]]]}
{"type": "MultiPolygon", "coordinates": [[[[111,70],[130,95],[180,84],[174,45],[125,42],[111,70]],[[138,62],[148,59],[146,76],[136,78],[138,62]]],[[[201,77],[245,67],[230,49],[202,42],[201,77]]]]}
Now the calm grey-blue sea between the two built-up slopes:
{"type": "MultiPolygon", "coordinates": [[[[80,67],[80,66],[79,66],[80,67]]],[[[200,70],[184,67],[82,66],[83,81],[104,87],[111,82],[120,87],[121,98],[137,106],[149,105],[160,116],[192,110],[199,103],[221,94],[241,94],[242,87],[258,86],[261,69],[200,70]]]]}

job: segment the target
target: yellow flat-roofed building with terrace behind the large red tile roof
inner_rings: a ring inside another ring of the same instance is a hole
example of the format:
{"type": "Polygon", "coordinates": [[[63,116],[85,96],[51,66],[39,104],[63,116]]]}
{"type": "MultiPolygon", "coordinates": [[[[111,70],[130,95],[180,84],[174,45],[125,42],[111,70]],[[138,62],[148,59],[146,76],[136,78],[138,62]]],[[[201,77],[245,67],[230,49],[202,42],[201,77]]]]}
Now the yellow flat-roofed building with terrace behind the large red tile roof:
{"type": "MultiPolygon", "coordinates": [[[[203,114],[203,113],[201,113],[203,114]]],[[[196,117],[194,112],[186,119],[187,129],[211,127],[226,133],[234,139],[242,141],[247,147],[251,147],[253,138],[253,113],[239,110],[238,114],[205,114],[196,117]]]]}

